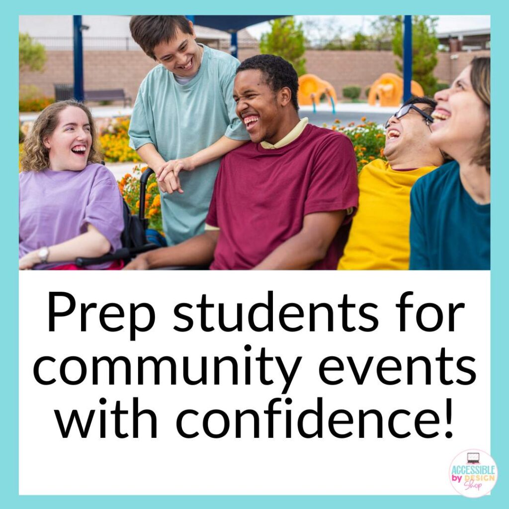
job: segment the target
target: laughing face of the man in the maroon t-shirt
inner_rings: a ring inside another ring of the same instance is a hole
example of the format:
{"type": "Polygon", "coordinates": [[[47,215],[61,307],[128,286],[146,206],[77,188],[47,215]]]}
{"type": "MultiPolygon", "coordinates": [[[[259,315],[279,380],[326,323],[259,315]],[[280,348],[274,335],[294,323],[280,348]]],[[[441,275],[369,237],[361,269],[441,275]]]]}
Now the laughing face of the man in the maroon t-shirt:
{"type": "Polygon", "coordinates": [[[247,69],[235,76],[233,97],[236,113],[246,126],[251,142],[276,143],[281,134],[282,108],[288,105],[291,94],[285,87],[274,92],[259,70],[247,69]]]}

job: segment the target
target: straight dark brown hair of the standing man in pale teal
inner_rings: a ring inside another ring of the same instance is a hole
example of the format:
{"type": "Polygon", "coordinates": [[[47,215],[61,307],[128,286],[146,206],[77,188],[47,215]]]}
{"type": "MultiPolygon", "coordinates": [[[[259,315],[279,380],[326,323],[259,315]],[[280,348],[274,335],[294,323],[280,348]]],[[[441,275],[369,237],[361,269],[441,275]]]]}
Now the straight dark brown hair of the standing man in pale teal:
{"type": "Polygon", "coordinates": [[[157,60],[154,48],[162,42],[173,41],[177,30],[193,33],[185,16],[132,16],[129,29],[132,38],[154,60],[157,60]]]}

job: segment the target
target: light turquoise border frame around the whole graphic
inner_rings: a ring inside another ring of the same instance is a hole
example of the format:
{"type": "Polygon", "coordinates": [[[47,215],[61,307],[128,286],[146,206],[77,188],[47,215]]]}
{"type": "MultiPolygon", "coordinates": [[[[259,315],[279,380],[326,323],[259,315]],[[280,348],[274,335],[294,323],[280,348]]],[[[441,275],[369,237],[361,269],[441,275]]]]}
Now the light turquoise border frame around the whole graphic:
{"type": "MultiPolygon", "coordinates": [[[[294,0],[289,4],[274,5],[269,0],[259,0],[256,3],[236,3],[232,0],[223,0],[221,5],[207,0],[193,0],[186,5],[178,4],[176,10],[191,14],[193,11],[200,14],[359,14],[364,11],[369,14],[490,14],[492,30],[492,56],[495,60],[492,73],[492,95],[495,104],[503,104],[504,79],[509,77],[503,62],[507,62],[506,50],[509,49],[507,42],[506,15],[509,9],[504,8],[500,2],[485,0],[473,2],[464,0],[461,7],[456,7],[453,2],[446,5],[443,1],[428,0],[424,6],[416,7],[395,0],[386,4],[385,9],[380,8],[380,3],[375,0],[363,0],[350,5],[331,6],[315,4],[310,6],[302,0],[294,0]]],[[[2,440],[2,465],[1,465],[1,491],[0,503],[9,509],[14,507],[37,508],[37,509],[68,509],[73,507],[81,509],[94,506],[101,507],[125,507],[138,508],[140,505],[152,507],[197,507],[221,508],[229,507],[248,509],[251,507],[279,507],[291,506],[329,508],[343,505],[346,507],[391,507],[407,508],[409,505],[415,509],[428,508],[430,505],[442,507],[447,505],[450,509],[464,507],[465,504],[476,504],[479,507],[502,507],[506,506],[508,497],[507,472],[509,471],[509,451],[507,438],[507,387],[506,362],[509,354],[509,342],[504,334],[506,331],[504,306],[506,299],[505,290],[508,283],[507,260],[505,248],[509,244],[506,241],[507,227],[505,215],[509,212],[509,200],[504,199],[504,192],[509,189],[509,173],[500,171],[503,151],[503,110],[496,108],[491,117],[493,137],[492,158],[496,161],[496,168],[492,184],[492,249],[491,249],[491,454],[497,462],[499,479],[492,495],[480,499],[466,499],[459,496],[19,496],[18,495],[18,274],[17,274],[17,243],[16,233],[17,214],[16,202],[17,177],[12,171],[17,166],[17,153],[14,151],[15,125],[18,118],[17,103],[15,97],[18,89],[18,67],[13,48],[16,44],[18,32],[18,16],[22,14],[160,14],[168,11],[169,4],[160,5],[153,3],[150,7],[141,8],[139,2],[124,0],[116,6],[110,0],[106,3],[99,0],[88,0],[83,6],[64,5],[61,2],[35,2],[24,0],[22,3],[6,5],[2,10],[3,27],[2,47],[4,55],[2,67],[4,79],[0,84],[2,88],[2,107],[6,120],[0,125],[2,139],[7,142],[9,149],[5,153],[7,160],[4,171],[7,172],[4,191],[4,203],[7,210],[6,228],[4,229],[5,243],[0,251],[2,269],[2,281],[4,291],[0,295],[0,313],[4,329],[3,355],[0,360],[0,383],[2,387],[2,417],[0,418],[0,434],[2,440]],[[80,12],[76,12],[76,11],[80,12]],[[505,504],[503,502],[505,500],[505,504]]],[[[506,64],[507,65],[507,64],[506,64]]],[[[485,338],[480,338],[480,341],[485,338]]]]}

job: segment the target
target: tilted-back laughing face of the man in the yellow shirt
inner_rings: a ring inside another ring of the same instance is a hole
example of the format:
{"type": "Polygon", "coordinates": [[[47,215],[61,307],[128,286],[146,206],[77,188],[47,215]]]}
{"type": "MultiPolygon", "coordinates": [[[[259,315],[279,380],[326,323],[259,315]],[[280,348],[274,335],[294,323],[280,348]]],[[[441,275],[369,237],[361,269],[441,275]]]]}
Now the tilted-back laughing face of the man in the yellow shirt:
{"type": "MultiPolygon", "coordinates": [[[[431,113],[429,104],[416,103],[415,106],[428,114],[431,113]]],[[[418,111],[410,109],[400,119],[392,116],[388,124],[385,131],[384,155],[389,163],[397,159],[404,164],[405,159],[411,160],[415,153],[430,151],[430,127],[418,111]]]]}

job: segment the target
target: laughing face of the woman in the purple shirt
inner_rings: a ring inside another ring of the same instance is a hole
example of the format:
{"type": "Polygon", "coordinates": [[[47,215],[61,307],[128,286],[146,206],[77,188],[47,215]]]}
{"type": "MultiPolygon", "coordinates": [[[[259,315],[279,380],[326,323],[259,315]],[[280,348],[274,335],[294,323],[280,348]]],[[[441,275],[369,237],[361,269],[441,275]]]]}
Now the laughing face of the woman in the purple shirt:
{"type": "Polygon", "coordinates": [[[68,106],[59,114],[55,130],[43,140],[53,171],[81,171],[87,166],[92,147],[91,126],[87,114],[68,106]]]}

